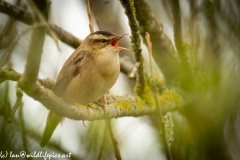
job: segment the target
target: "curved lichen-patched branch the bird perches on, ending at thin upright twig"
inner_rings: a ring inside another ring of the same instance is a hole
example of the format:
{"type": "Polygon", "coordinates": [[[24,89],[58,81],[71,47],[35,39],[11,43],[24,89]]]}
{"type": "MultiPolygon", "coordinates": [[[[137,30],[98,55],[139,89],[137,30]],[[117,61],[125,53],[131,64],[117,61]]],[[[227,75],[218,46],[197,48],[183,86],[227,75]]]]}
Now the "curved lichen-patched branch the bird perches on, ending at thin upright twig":
{"type": "MultiPolygon", "coordinates": [[[[34,91],[28,95],[58,115],[75,120],[100,120],[106,117],[117,118],[155,114],[155,107],[142,106],[143,108],[140,108],[140,106],[137,105],[140,100],[136,96],[109,97],[109,105],[105,107],[104,113],[101,107],[97,107],[94,104],[91,105],[91,107],[69,105],[39,83],[37,83],[34,91]]],[[[140,103],[142,103],[142,101],[140,101],[140,103]]]]}

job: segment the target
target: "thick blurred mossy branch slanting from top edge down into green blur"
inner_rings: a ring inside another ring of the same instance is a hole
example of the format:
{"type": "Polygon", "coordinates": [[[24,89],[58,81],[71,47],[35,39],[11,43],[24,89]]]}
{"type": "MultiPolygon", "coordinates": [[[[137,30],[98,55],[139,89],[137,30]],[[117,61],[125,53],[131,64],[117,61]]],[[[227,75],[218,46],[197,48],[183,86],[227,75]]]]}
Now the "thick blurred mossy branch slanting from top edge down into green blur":
{"type": "Polygon", "coordinates": [[[145,0],[134,1],[140,34],[146,44],[145,33],[151,35],[153,58],[161,69],[166,82],[174,82],[179,76],[179,59],[171,40],[164,33],[162,24],[158,23],[145,0]]]}

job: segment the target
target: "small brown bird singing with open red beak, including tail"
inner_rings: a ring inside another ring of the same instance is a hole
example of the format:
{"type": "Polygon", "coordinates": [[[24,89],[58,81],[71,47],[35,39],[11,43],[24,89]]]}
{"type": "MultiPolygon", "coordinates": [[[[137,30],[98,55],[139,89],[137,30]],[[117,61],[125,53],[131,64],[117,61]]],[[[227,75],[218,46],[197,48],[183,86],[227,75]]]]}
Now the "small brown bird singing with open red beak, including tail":
{"type": "MultiPolygon", "coordinates": [[[[117,36],[108,31],[96,31],[88,35],[68,58],[60,71],[53,92],[64,101],[87,105],[101,98],[116,82],[119,72],[117,36]]],[[[44,147],[63,117],[50,111],[41,139],[44,147]]]]}

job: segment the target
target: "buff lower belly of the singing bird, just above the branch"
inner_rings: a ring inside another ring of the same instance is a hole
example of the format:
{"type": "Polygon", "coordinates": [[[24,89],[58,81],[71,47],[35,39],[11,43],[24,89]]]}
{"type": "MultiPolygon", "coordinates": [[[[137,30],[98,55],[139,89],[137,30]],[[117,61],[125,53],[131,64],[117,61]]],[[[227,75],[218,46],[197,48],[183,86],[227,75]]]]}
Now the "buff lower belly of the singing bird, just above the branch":
{"type": "Polygon", "coordinates": [[[111,77],[95,75],[93,73],[77,75],[67,86],[62,98],[68,103],[86,105],[101,98],[116,82],[118,74],[111,77]]]}

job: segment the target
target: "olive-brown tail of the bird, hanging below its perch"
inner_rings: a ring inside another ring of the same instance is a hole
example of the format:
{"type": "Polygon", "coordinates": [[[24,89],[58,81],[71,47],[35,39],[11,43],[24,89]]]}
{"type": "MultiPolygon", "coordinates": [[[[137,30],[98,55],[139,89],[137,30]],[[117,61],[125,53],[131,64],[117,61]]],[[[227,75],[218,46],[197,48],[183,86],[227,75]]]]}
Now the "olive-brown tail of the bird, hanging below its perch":
{"type": "Polygon", "coordinates": [[[42,139],[41,139],[41,143],[40,146],[44,147],[49,139],[51,138],[55,128],[57,127],[57,125],[62,121],[63,117],[53,113],[53,112],[49,112],[48,114],[48,118],[47,118],[47,122],[46,122],[46,127],[44,129],[43,135],[42,135],[42,139]]]}

